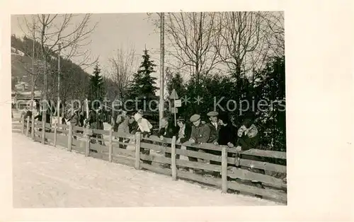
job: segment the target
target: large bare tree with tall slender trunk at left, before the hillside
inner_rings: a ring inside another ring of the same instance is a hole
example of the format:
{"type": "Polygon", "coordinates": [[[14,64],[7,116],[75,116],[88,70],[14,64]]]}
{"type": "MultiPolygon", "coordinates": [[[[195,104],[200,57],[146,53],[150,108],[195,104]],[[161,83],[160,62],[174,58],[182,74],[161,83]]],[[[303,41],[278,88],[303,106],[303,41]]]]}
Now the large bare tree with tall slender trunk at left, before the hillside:
{"type": "MultiPolygon", "coordinates": [[[[75,56],[83,57],[82,52],[78,49],[84,45],[89,44],[86,42],[89,35],[96,28],[96,24],[89,28],[90,14],[85,14],[84,17],[79,20],[78,23],[74,21],[78,15],[73,14],[38,14],[36,22],[33,21],[33,33],[38,33],[38,37],[35,37],[35,42],[40,42],[40,52],[42,62],[44,62],[43,83],[44,83],[44,95],[42,98],[47,100],[48,93],[48,63],[51,57],[55,57],[55,53],[59,50],[65,54],[67,52],[67,58],[75,56]],[[77,24],[77,25],[73,25],[77,24]],[[61,46],[59,49],[58,46],[61,46]]],[[[24,16],[25,25],[28,28],[27,18],[24,16]]],[[[28,28],[30,30],[30,28],[28,28]]],[[[82,65],[82,64],[81,64],[82,65]]],[[[45,126],[46,119],[46,103],[43,103],[44,109],[42,110],[42,124],[45,126]]],[[[58,110],[59,111],[59,110],[58,110]]],[[[43,129],[43,134],[44,134],[43,129]]],[[[44,138],[44,137],[43,137],[44,138]]],[[[43,141],[44,142],[44,141],[43,141]]]]}

